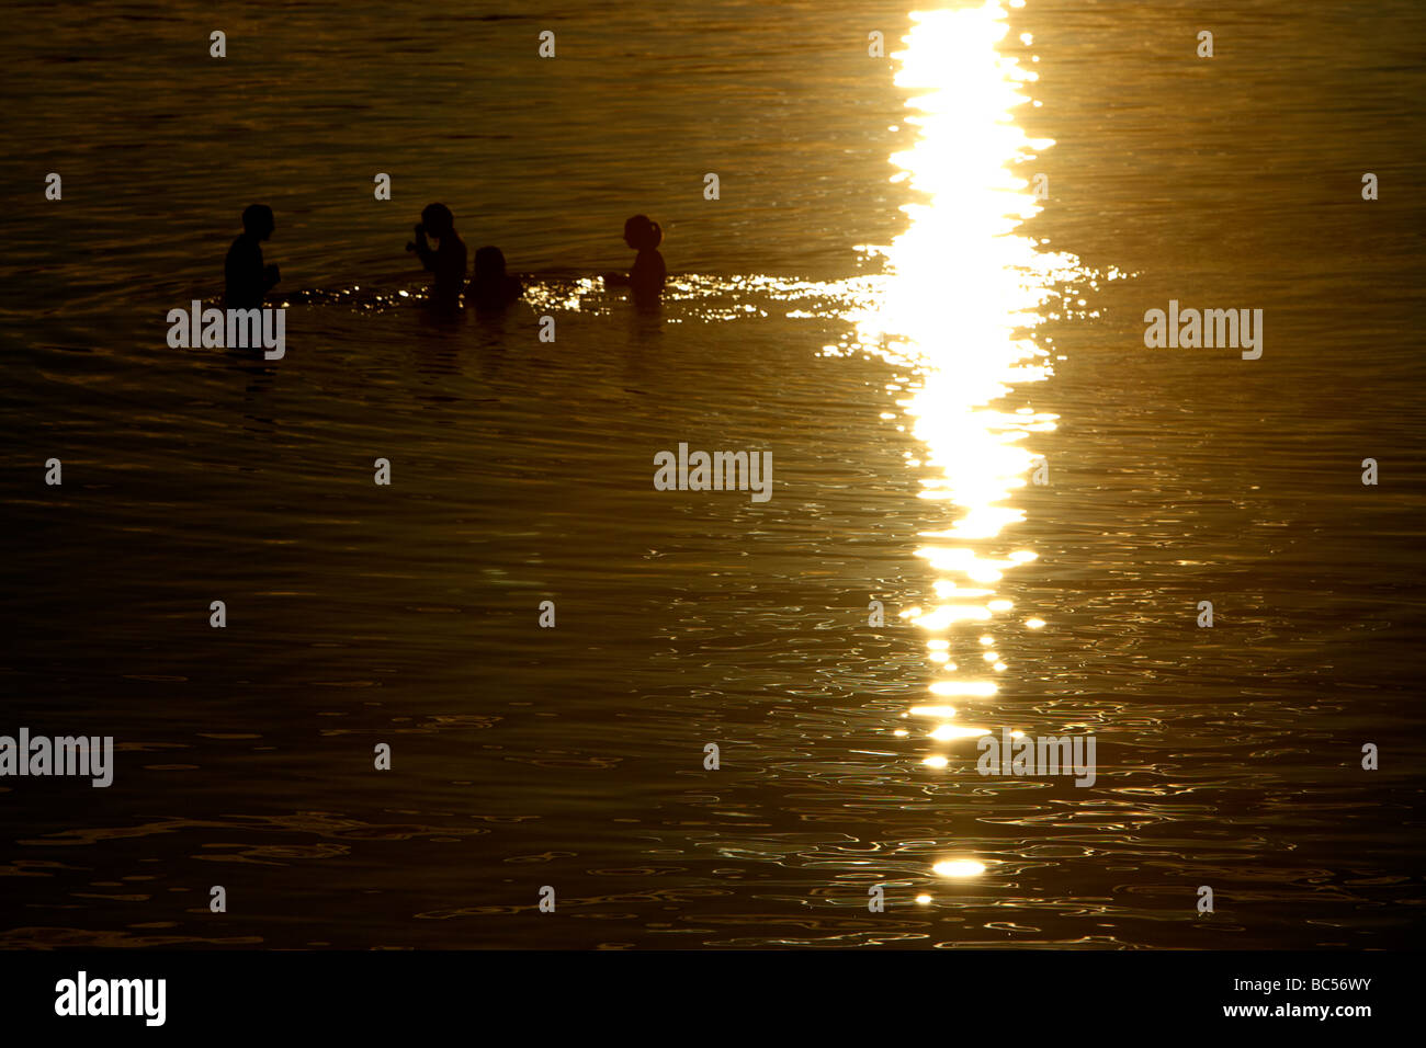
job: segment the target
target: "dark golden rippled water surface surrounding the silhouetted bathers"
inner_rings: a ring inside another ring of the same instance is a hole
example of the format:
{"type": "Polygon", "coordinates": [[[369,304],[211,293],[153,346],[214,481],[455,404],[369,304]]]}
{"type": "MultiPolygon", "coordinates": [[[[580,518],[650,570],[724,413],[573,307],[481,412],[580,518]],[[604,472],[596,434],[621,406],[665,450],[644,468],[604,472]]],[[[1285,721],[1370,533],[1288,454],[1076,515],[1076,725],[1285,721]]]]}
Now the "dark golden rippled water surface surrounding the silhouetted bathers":
{"type": "Polygon", "coordinates": [[[3,44],[0,731],[120,753],[0,786],[0,942],[1407,945],[1420,9],[523,10],[3,44]],[[287,358],[168,349],[258,198],[287,358]],[[528,305],[425,312],[436,198],[528,305]],[[633,211],[660,315],[589,279],[633,211]],[[1145,349],[1169,298],[1262,359],[1145,349]]]}

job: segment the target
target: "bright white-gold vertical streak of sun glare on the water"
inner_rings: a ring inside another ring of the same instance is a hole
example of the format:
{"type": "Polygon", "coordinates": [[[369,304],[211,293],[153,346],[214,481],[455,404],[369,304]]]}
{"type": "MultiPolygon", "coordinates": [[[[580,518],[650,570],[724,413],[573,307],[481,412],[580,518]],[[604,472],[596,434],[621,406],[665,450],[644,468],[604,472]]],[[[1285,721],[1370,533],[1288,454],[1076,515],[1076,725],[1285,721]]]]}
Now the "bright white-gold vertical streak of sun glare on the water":
{"type": "MultiPolygon", "coordinates": [[[[1072,255],[1017,232],[1041,208],[1012,168],[1054,143],[1030,138],[1015,124],[1037,76],[1000,53],[1007,17],[994,0],[911,16],[906,48],[893,58],[897,86],[911,93],[906,123],[918,135],[891,164],[893,181],[907,183],[917,202],[904,207],[906,232],[880,251],[880,294],[851,317],[860,349],[914,375],[893,394],[924,445],[908,465],[920,471],[928,503],[915,556],[934,577],[924,605],[901,616],[925,636],[930,696],[965,706],[910,707],[910,716],[931,720],[915,736],[934,744],[923,766],[937,773],[973,761],[974,740],[991,730],[974,720],[975,707],[1000,692],[995,677],[1010,669],[997,636],[1044,625],[1017,623],[1014,602],[995,586],[1037,556],[1004,532],[1024,520],[1011,499],[1038,465],[1037,438],[1057,419],[1007,401],[1051,376],[1034,329],[1044,307],[1060,298],[1057,287],[1085,277],[1072,255]]],[[[964,878],[985,868],[954,858],[933,873],[964,878]]]]}

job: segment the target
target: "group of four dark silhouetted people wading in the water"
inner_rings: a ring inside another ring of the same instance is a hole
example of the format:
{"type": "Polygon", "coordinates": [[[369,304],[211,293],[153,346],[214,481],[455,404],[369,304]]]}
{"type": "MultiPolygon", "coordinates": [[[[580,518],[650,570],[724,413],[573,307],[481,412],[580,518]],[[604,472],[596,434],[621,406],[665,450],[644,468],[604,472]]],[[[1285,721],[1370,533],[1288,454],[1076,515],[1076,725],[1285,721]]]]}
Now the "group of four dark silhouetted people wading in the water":
{"type": "MultiPolygon", "coordinates": [[[[242,234],[232,241],[224,262],[225,301],[230,308],[261,307],[262,297],[277,285],[277,267],[262,264],[262,241],[275,228],[272,208],[267,204],[252,204],[242,212],[242,234]]],[[[415,237],[406,244],[406,251],[415,252],[421,265],[435,275],[431,285],[432,305],[459,308],[462,287],[465,304],[481,312],[503,309],[525,294],[520,282],[505,272],[505,254],[496,247],[483,247],[475,252],[475,269],[471,282],[465,282],[465,241],[455,231],[455,215],[445,204],[425,207],[415,237]],[[431,247],[428,237],[435,238],[436,247],[431,247]]],[[[606,272],[605,282],[629,288],[639,304],[656,302],[667,277],[663,255],[659,254],[663,230],[647,215],[635,215],[625,222],[623,238],[639,252],[633,268],[627,274],[606,272]]]]}

